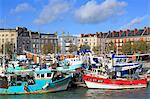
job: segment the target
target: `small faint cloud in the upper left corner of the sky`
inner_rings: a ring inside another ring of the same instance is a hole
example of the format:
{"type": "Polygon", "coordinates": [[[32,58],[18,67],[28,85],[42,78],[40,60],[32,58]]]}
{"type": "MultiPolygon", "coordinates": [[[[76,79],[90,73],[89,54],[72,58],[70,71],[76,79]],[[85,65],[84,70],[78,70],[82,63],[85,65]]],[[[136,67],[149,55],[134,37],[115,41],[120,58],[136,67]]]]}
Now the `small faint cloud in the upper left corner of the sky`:
{"type": "Polygon", "coordinates": [[[32,7],[32,5],[28,3],[21,3],[16,6],[16,8],[11,9],[10,13],[20,13],[20,12],[26,12],[26,11],[33,11],[35,8],[32,7]]]}

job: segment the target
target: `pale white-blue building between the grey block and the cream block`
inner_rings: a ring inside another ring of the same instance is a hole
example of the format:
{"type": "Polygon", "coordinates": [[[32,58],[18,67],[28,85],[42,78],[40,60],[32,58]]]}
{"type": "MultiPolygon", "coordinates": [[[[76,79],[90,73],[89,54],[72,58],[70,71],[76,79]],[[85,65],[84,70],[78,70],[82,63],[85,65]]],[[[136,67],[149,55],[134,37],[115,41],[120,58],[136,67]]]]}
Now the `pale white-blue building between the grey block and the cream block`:
{"type": "Polygon", "coordinates": [[[60,46],[60,50],[61,50],[61,54],[67,54],[69,53],[69,48],[70,48],[70,45],[73,44],[73,45],[78,45],[78,37],[76,36],[65,36],[65,35],[62,35],[62,36],[59,36],[58,38],[58,46],[60,46]]]}

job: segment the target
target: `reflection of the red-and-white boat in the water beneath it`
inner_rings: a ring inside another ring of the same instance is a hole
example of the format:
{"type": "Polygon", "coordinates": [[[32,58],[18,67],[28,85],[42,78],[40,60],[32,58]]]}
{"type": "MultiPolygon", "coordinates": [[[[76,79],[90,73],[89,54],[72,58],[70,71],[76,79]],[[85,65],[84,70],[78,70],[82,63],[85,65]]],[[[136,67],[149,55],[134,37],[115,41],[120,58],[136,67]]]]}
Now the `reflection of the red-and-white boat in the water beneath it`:
{"type": "Polygon", "coordinates": [[[150,90],[146,88],[124,90],[88,89],[85,96],[89,99],[145,99],[149,98],[150,90]]]}

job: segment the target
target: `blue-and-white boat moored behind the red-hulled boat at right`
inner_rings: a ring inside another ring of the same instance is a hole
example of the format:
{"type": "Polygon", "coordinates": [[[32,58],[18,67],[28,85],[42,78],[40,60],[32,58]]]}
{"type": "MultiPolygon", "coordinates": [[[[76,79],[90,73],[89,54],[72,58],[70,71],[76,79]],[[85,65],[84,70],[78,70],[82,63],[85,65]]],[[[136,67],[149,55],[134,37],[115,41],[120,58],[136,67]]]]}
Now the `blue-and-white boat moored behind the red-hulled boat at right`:
{"type": "Polygon", "coordinates": [[[110,60],[108,60],[108,67],[112,69],[118,75],[116,76],[124,76],[127,74],[134,74],[136,71],[142,70],[142,63],[132,61],[126,55],[112,55],[110,60]]]}

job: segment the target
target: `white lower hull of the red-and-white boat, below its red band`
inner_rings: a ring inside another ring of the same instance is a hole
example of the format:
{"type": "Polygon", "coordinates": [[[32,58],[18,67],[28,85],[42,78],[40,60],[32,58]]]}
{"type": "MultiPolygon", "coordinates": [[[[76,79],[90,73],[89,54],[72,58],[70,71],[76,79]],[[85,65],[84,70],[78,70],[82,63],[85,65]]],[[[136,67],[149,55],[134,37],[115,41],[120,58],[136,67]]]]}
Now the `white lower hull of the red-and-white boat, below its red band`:
{"type": "Polygon", "coordinates": [[[102,83],[95,83],[90,81],[85,81],[88,88],[95,88],[95,89],[131,89],[131,88],[145,88],[147,87],[146,84],[139,84],[139,85],[116,85],[116,84],[102,84],[102,83]]]}

